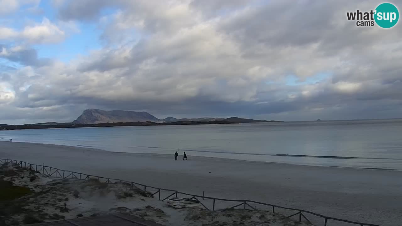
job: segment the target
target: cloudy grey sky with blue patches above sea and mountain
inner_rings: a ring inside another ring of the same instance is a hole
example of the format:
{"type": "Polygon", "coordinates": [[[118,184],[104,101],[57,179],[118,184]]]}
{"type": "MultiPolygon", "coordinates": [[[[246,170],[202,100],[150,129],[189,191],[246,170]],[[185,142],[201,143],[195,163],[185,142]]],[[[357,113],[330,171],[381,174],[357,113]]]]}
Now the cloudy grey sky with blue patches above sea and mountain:
{"type": "Polygon", "coordinates": [[[0,0],[0,123],[402,118],[402,22],[346,16],[380,3],[0,0]]]}

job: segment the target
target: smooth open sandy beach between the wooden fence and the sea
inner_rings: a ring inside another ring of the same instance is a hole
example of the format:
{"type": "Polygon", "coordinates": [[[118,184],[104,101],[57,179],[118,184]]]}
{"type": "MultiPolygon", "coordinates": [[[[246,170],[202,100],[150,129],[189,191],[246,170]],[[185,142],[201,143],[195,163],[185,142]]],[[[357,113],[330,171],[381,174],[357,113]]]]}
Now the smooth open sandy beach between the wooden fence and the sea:
{"type": "Polygon", "coordinates": [[[402,225],[402,172],[302,166],[0,142],[0,158],[227,199],[249,199],[346,220],[402,225]],[[181,157],[181,158],[180,158],[181,157]]]}

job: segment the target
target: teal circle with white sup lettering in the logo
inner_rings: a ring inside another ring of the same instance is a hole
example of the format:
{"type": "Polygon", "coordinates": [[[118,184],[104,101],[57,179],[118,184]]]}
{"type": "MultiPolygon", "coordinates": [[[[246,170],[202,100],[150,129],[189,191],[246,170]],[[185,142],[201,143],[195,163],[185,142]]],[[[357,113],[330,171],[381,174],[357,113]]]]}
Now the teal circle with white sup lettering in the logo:
{"type": "Polygon", "coordinates": [[[391,3],[382,3],[375,8],[375,23],[382,28],[394,27],[398,19],[398,8],[391,3]]]}

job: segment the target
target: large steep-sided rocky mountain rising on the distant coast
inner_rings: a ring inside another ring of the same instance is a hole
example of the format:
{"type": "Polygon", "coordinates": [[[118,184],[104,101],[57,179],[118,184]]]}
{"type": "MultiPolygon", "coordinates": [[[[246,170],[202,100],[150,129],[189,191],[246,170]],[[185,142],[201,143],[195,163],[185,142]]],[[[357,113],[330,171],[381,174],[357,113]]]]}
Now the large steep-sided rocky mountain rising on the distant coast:
{"type": "Polygon", "coordinates": [[[99,109],[86,109],[82,115],[78,117],[73,123],[78,124],[95,124],[95,123],[114,123],[114,122],[143,122],[152,121],[156,123],[164,122],[156,118],[148,112],[137,111],[103,111],[99,109]]]}

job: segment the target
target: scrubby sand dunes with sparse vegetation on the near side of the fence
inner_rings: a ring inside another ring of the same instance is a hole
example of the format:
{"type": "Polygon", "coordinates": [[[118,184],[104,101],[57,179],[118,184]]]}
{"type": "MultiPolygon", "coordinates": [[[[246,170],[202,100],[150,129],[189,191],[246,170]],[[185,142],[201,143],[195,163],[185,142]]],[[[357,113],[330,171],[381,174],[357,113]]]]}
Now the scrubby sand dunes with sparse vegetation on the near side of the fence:
{"type": "Polygon", "coordinates": [[[168,205],[172,199],[159,201],[152,193],[130,183],[106,183],[95,178],[60,179],[10,162],[1,165],[0,175],[2,185],[18,186],[12,189],[24,189],[25,192],[25,195],[12,201],[2,199],[2,225],[31,225],[106,214],[128,214],[166,226],[311,225],[296,222],[297,219],[286,218],[283,214],[250,208],[212,212],[205,210],[194,199],[191,199],[192,207],[173,208],[168,205]]]}

